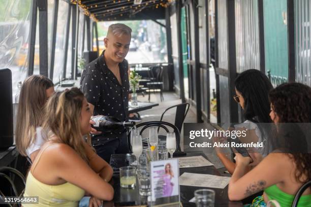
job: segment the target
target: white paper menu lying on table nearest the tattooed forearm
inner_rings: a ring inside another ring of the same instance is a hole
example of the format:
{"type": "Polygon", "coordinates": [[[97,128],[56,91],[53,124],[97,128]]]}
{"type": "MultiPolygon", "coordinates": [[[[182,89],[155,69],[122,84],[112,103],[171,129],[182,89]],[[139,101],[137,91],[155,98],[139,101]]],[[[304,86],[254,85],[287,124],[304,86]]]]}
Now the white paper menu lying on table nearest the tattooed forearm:
{"type": "Polygon", "coordinates": [[[230,177],[184,172],[179,177],[179,185],[224,189],[229,180],[230,177]]]}

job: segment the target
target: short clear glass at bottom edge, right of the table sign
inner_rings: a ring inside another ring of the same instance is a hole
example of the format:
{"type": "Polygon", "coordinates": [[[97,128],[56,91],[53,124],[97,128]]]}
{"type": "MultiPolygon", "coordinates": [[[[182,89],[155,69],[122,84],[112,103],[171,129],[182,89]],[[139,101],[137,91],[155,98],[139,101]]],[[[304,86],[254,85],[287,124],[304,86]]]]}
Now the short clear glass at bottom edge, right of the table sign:
{"type": "Polygon", "coordinates": [[[215,191],[210,189],[200,189],[195,191],[197,207],[214,207],[215,191]]]}

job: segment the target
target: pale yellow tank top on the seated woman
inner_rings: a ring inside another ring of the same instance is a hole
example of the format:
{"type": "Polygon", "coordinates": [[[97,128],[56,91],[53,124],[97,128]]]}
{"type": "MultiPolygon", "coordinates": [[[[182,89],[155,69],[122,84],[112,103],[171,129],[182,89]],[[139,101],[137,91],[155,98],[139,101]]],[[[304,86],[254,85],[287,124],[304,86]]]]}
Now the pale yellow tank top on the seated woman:
{"type": "MultiPolygon", "coordinates": [[[[44,148],[38,155],[39,157],[35,163],[33,171],[35,170],[36,165],[46,148],[44,148]]],[[[78,206],[79,201],[84,196],[84,193],[85,191],[83,189],[68,182],[61,185],[44,184],[38,181],[29,170],[24,196],[39,196],[39,205],[23,204],[23,206],[78,206]]]]}

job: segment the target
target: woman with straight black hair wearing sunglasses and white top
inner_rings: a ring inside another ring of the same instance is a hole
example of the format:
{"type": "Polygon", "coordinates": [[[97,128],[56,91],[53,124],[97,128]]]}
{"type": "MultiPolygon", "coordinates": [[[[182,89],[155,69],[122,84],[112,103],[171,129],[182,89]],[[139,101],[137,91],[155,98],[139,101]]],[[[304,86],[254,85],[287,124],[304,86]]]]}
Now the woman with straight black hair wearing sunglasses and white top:
{"type": "MultiPolygon", "coordinates": [[[[236,127],[247,128],[247,139],[255,137],[255,142],[264,143],[263,145],[265,147],[258,149],[258,152],[263,156],[269,153],[269,149],[267,148],[269,146],[267,144],[269,133],[266,127],[260,126],[260,123],[271,122],[269,117],[270,103],[268,94],[272,89],[273,87],[268,77],[255,69],[244,71],[235,79],[236,95],[233,98],[241,106],[245,120],[236,127]]],[[[232,174],[235,169],[235,163],[219,149],[216,149],[216,153],[224,166],[232,174]]]]}

